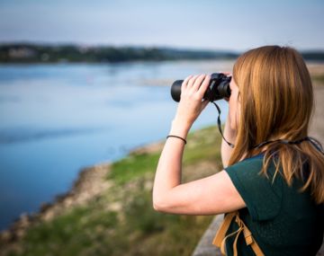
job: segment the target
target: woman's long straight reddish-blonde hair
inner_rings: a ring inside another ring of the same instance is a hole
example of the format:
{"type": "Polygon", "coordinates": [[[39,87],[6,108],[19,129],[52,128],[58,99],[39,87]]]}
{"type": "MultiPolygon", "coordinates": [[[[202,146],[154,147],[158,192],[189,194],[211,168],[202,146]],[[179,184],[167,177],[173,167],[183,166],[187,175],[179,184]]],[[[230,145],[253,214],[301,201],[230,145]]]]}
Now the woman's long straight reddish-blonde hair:
{"type": "Polygon", "coordinates": [[[238,57],[233,79],[238,84],[241,109],[229,165],[242,157],[265,152],[262,172],[266,174],[275,153],[278,156],[275,175],[280,172],[288,185],[294,178],[302,179],[302,191],[310,189],[313,199],[323,203],[324,155],[311,142],[272,143],[266,148],[253,148],[268,140],[298,140],[308,136],[314,99],[311,76],[301,54],[289,47],[251,49],[238,57]],[[308,175],[302,171],[306,162],[308,175]]]}

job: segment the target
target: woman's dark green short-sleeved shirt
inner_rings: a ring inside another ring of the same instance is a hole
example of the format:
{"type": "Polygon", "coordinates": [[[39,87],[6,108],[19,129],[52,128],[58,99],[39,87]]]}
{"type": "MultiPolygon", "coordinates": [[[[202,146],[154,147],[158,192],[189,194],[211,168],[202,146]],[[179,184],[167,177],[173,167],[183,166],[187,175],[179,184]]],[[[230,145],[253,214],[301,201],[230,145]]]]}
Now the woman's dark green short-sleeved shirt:
{"type": "MultiPolygon", "coordinates": [[[[247,206],[239,210],[240,218],[266,256],[316,255],[323,241],[323,204],[316,205],[309,191],[298,191],[302,181],[295,180],[289,187],[278,173],[273,182],[274,163],[268,168],[269,179],[259,173],[263,156],[259,154],[225,169],[247,206]]],[[[233,220],[227,234],[237,229],[233,220]]],[[[226,243],[228,255],[233,255],[234,238],[229,237],[226,243]]],[[[239,256],[255,255],[242,233],[237,246],[239,256]]]]}

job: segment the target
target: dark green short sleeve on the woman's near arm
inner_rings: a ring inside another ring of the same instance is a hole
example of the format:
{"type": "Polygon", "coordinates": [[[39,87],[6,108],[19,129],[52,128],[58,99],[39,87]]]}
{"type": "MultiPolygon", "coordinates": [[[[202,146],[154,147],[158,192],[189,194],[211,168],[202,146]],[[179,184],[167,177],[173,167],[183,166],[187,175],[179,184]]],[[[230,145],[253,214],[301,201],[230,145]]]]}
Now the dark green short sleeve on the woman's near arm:
{"type": "Polygon", "coordinates": [[[257,157],[225,168],[254,221],[275,218],[280,212],[283,197],[281,175],[278,173],[274,180],[275,166],[270,165],[266,177],[260,173],[262,164],[263,158],[257,157]]]}

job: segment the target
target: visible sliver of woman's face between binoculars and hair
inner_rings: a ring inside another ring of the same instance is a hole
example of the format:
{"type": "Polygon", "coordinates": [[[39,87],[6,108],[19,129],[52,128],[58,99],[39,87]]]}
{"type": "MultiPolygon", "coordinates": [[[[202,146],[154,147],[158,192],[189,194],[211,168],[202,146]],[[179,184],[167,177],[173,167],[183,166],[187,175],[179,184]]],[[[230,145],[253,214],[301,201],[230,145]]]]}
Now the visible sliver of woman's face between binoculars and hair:
{"type": "Polygon", "coordinates": [[[229,97],[229,118],[230,118],[230,128],[237,130],[238,129],[238,117],[240,113],[240,103],[238,98],[238,85],[235,84],[234,79],[232,78],[229,83],[231,90],[229,97]]]}

